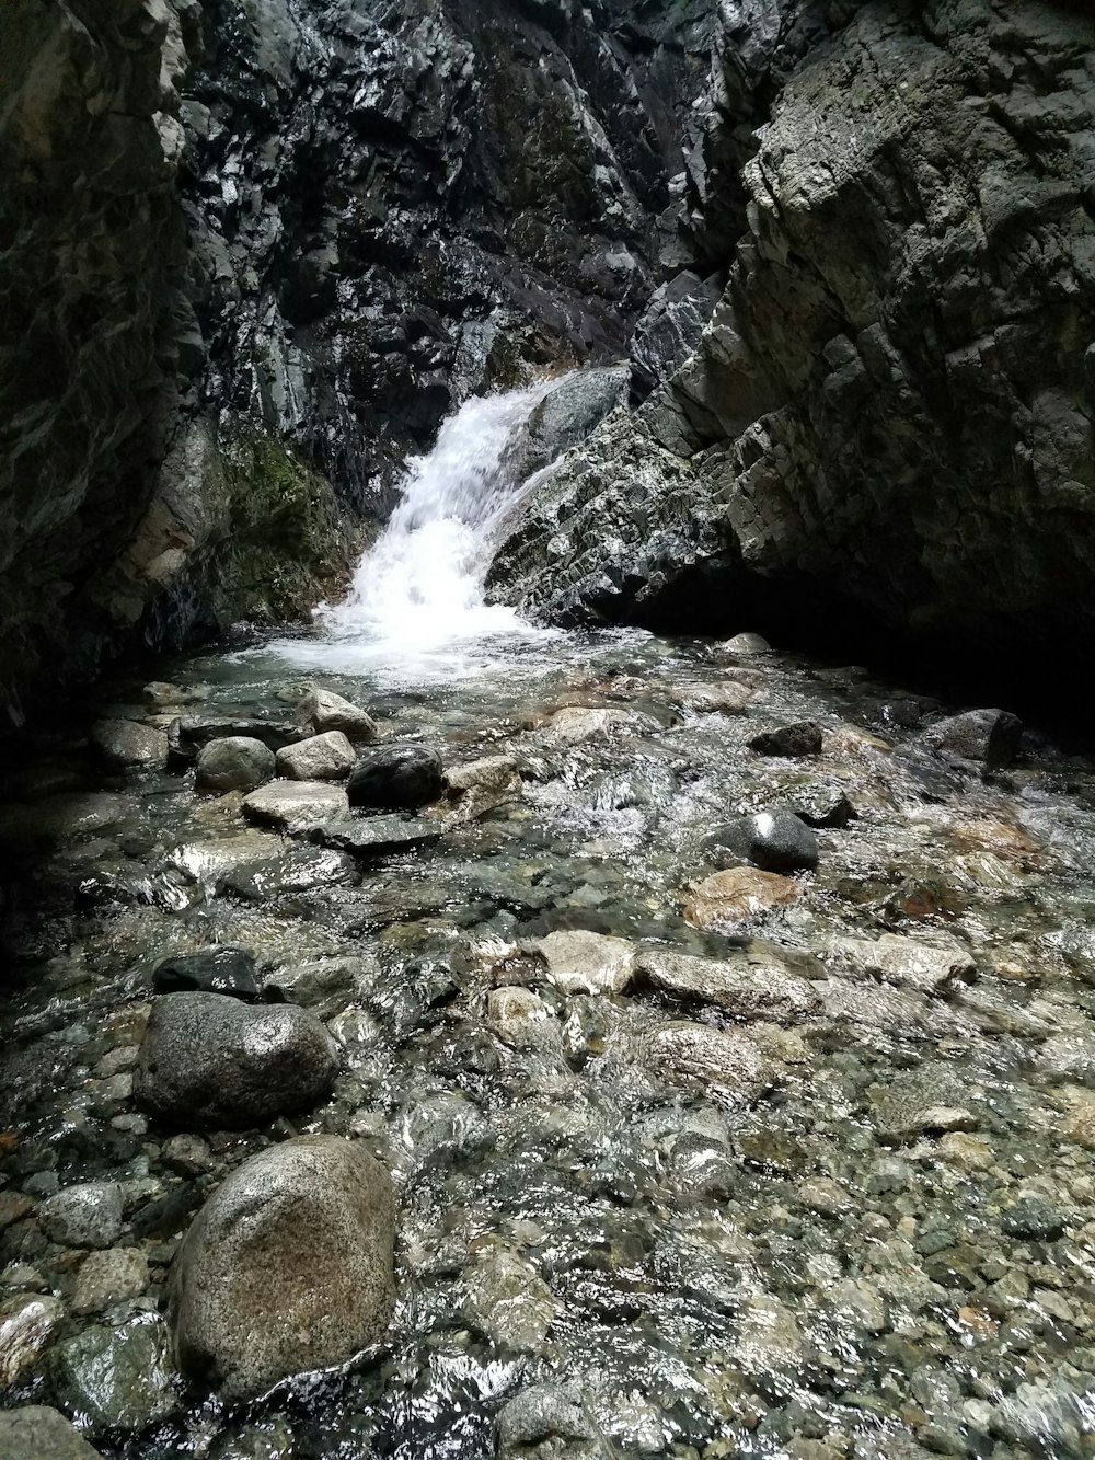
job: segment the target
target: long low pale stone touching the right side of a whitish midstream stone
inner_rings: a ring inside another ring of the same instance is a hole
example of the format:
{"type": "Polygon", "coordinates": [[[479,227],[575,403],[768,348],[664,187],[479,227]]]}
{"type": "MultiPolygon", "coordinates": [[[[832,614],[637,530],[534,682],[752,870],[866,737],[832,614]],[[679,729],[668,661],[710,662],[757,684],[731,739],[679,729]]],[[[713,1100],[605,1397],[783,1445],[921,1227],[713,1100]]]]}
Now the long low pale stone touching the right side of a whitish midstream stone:
{"type": "MultiPolygon", "coordinates": [[[[818,1015],[822,1007],[810,984],[780,965],[778,950],[766,959],[750,959],[745,950],[733,959],[714,959],[642,948],[635,972],[666,993],[715,1004],[737,1019],[791,1023],[818,1015]]],[[[818,972],[823,972],[821,965],[818,972]]]]}

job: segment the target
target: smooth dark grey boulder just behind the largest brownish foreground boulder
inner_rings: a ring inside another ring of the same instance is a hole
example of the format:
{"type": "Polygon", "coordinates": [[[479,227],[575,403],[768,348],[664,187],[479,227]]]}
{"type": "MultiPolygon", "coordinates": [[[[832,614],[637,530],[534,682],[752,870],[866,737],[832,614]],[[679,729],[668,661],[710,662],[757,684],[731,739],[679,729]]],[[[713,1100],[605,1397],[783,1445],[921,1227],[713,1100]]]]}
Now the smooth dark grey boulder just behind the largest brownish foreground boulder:
{"type": "Polygon", "coordinates": [[[152,1003],[133,1098],[174,1126],[245,1129],[311,1110],[336,1075],[327,1031],[307,1009],[164,994],[152,1003]]]}

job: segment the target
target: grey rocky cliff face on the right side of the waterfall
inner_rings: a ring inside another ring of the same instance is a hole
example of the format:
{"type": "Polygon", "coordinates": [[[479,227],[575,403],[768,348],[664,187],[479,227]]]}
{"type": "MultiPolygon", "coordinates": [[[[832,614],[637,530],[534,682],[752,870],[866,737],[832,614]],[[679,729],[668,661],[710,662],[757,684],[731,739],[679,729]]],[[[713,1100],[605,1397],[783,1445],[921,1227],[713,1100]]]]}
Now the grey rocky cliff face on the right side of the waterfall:
{"type": "Polygon", "coordinates": [[[688,207],[704,267],[740,232],[727,286],[661,384],[644,366],[642,409],[526,504],[495,581],[561,618],[842,600],[1091,641],[1095,22],[1003,0],[720,19],[688,207]]]}

